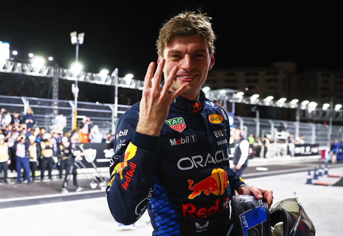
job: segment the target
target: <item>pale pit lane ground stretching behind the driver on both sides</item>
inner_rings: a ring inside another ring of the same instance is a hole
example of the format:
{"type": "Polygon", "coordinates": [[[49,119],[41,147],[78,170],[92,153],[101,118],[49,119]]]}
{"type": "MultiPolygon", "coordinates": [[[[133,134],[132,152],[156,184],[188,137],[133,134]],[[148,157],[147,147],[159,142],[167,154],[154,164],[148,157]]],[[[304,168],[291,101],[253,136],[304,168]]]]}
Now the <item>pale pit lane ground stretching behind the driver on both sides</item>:
{"type": "MultiPolygon", "coordinates": [[[[311,163],[309,164],[311,165],[311,163]]],[[[317,163],[312,163],[312,165],[317,165],[317,163]]],[[[264,167],[268,168],[268,166],[264,167]]],[[[268,173],[268,171],[263,173],[268,173]]],[[[331,168],[329,173],[343,175],[343,167],[331,168]]],[[[342,235],[343,204],[341,201],[343,187],[306,185],[307,172],[304,171],[263,177],[249,175],[248,177],[247,183],[249,185],[272,189],[274,203],[293,197],[293,192],[296,191],[297,196],[303,202],[306,213],[316,227],[316,235],[342,235]]],[[[85,180],[80,181],[80,185],[86,184],[83,181],[85,180]]],[[[339,181],[339,178],[323,176],[318,181],[333,184],[339,181]]],[[[31,190],[31,194],[26,197],[21,194],[12,195],[12,197],[1,197],[5,188],[13,190],[12,187],[15,186],[15,192],[22,192],[24,188],[29,191],[30,188],[35,186],[34,184],[0,185],[1,235],[86,236],[108,234],[151,235],[152,233],[152,226],[148,223],[149,216],[147,212],[136,223],[136,229],[133,231],[119,231],[118,224],[108,210],[104,192],[97,189],[91,190],[88,188],[86,189],[88,191],[77,194],[70,192],[61,195],[58,193],[59,182],[43,182],[37,183],[42,185],[40,188],[52,189],[46,195],[39,194],[35,196],[33,194],[34,190],[31,190]],[[48,188],[49,186],[51,188],[48,188]]],[[[72,190],[72,183],[70,183],[70,190],[72,190]]]]}

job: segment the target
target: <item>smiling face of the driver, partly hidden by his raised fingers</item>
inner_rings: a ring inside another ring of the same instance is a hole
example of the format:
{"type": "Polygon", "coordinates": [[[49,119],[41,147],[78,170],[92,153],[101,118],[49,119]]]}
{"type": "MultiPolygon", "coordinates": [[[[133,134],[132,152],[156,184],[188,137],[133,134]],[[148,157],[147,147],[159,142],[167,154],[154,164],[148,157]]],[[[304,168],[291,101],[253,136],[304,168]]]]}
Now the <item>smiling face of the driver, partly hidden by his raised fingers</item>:
{"type": "Polygon", "coordinates": [[[206,81],[208,71],[214,65],[213,53],[209,54],[204,37],[198,35],[172,37],[163,51],[163,57],[159,55],[158,62],[162,58],[166,60],[163,69],[165,79],[168,78],[173,66],[178,67],[170,90],[175,91],[183,83],[188,82],[189,85],[182,92],[182,96],[196,100],[201,86],[206,81]]]}

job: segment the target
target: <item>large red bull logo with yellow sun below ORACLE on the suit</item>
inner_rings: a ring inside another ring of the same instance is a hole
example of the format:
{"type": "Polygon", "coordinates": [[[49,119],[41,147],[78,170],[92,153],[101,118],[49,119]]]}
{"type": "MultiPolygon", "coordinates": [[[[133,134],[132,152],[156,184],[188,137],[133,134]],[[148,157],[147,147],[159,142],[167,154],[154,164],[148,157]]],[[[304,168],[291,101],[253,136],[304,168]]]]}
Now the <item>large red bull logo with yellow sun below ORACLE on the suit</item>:
{"type": "Polygon", "coordinates": [[[193,190],[193,192],[188,196],[189,199],[193,199],[194,197],[204,192],[204,194],[209,195],[213,193],[214,195],[223,195],[225,188],[227,188],[227,173],[223,169],[213,169],[211,176],[203,179],[197,184],[192,184],[194,181],[188,179],[189,183],[189,190],[193,190]],[[221,186],[221,188],[219,188],[221,186]]]}

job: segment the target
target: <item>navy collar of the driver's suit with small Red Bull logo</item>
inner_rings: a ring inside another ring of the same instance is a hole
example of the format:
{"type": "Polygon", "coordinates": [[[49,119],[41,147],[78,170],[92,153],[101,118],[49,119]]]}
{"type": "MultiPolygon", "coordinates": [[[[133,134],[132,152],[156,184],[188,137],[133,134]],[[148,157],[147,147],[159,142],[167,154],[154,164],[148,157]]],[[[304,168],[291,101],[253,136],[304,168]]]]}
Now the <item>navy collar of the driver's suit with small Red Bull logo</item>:
{"type": "MultiPolygon", "coordinates": [[[[164,81],[161,84],[163,87],[164,81]]],[[[171,91],[168,91],[168,94],[171,94],[171,91]]],[[[197,101],[192,101],[187,98],[178,96],[172,103],[171,107],[175,107],[179,110],[189,111],[190,113],[201,113],[205,105],[205,93],[200,89],[199,98],[197,101]]]]}

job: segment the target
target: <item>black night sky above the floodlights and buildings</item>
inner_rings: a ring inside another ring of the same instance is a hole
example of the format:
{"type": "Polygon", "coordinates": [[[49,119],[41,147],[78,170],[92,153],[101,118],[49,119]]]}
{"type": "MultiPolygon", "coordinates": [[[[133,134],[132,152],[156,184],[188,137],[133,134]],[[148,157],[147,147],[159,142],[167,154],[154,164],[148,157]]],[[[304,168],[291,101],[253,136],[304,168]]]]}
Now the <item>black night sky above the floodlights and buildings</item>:
{"type": "Polygon", "coordinates": [[[162,23],[184,10],[201,7],[211,16],[215,42],[215,68],[269,66],[274,61],[293,61],[299,69],[342,68],[341,20],[332,12],[291,7],[259,10],[229,3],[101,3],[55,2],[1,5],[0,36],[11,40],[20,57],[29,52],[52,56],[69,67],[75,60],[70,32],[84,32],[79,60],[84,71],[119,76],[132,73],[141,79],[150,61],[157,60],[155,40],[162,23]],[[298,10],[296,10],[298,9],[298,10]],[[335,18],[337,17],[337,19],[335,18]]]}

